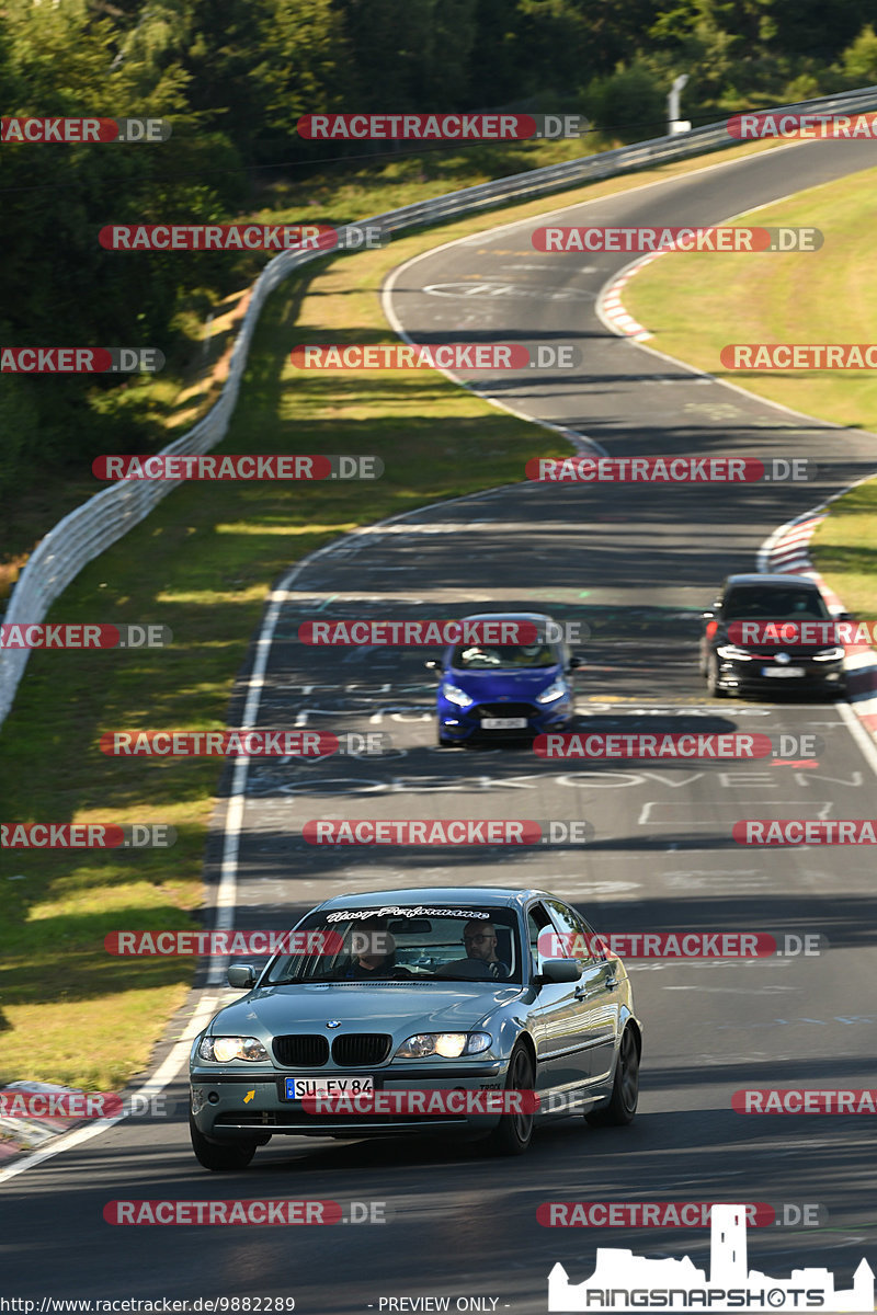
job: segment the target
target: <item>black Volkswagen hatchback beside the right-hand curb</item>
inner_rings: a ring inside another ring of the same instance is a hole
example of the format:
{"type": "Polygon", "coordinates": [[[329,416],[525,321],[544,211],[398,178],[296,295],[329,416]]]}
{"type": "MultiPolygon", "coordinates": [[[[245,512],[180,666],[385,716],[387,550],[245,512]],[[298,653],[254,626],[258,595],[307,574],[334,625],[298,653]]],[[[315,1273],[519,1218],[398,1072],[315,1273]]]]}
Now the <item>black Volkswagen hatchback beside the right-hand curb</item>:
{"type": "Polygon", "coordinates": [[[847,690],[844,648],[813,580],[798,575],[728,576],[703,613],[701,675],[714,697],[777,689],[847,690]]]}

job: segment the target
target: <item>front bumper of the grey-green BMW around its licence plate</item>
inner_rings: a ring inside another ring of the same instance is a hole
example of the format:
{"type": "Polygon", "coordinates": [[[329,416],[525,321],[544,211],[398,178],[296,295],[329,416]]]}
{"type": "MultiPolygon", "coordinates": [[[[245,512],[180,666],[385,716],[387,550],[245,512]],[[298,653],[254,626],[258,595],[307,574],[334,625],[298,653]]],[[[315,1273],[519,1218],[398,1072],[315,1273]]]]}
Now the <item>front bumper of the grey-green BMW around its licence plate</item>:
{"type": "Polygon", "coordinates": [[[312,1114],[301,1101],[287,1101],[287,1077],[373,1077],[375,1091],[501,1090],[505,1086],[508,1061],[472,1065],[450,1065],[440,1070],[413,1066],[387,1069],[329,1069],[320,1073],[304,1069],[262,1069],[258,1074],[208,1072],[205,1066],[189,1077],[191,1110],[199,1132],[216,1141],[250,1140],[255,1135],[287,1134],[291,1136],[398,1136],[425,1132],[490,1132],[500,1115],[414,1115],[312,1114]],[[252,1093],[252,1095],[250,1095],[252,1093]],[[245,1099],[249,1097],[249,1099],[245,1099]]]}

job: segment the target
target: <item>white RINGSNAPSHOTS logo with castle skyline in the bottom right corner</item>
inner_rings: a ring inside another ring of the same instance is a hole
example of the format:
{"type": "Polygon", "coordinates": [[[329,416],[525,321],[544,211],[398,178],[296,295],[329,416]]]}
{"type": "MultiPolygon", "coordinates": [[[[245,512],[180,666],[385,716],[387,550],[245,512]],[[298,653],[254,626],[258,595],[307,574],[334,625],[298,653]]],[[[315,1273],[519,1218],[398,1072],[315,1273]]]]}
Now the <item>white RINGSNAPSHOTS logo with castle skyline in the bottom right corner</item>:
{"type": "Polygon", "coordinates": [[[748,1268],[747,1206],[714,1205],[710,1218],[710,1272],[690,1258],[650,1260],[630,1251],[597,1248],[594,1272],[571,1283],[557,1264],[548,1274],[548,1311],[873,1311],[874,1272],[863,1260],[853,1285],[838,1289],[828,1269],[794,1269],[770,1278],[748,1268]]]}

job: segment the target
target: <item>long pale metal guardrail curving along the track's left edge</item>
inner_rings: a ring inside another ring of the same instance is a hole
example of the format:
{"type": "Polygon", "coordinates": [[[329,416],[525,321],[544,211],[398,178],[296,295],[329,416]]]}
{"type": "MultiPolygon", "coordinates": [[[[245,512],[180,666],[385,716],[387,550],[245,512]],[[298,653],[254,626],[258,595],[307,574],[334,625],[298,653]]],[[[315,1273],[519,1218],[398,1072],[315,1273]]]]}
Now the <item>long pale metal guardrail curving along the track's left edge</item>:
{"type": "MultiPolygon", "coordinates": [[[[785,105],[773,110],[759,110],[757,113],[844,114],[870,109],[877,109],[877,85],[864,87],[840,96],[799,101],[795,105],[785,105]]],[[[569,189],[579,183],[613,178],[644,164],[684,159],[688,155],[736,145],[739,142],[730,137],[724,121],[706,124],[690,133],[657,137],[648,142],[636,142],[634,146],[622,146],[614,151],[604,151],[600,155],[589,155],[565,164],[551,164],[547,168],[530,170],[526,174],[515,174],[493,183],[481,183],[479,187],[467,187],[460,192],[450,192],[447,196],[439,196],[431,201],[419,201],[398,210],[389,210],[387,214],[360,220],[356,226],[371,225],[385,234],[397,233],[409,227],[437,224],[458,214],[471,214],[492,205],[569,189]]],[[[344,233],[346,229],[339,229],[341,235],[344,233]]],[[[162,448],[162,454],[209,452],[212,447],[222,442],[234,412],[247,363],[250,341],[268,293],[293,270],[309,260],[321,259],[325,254],[325,251],[284,251],[268,262],[254,284],[252,297],[231,352],[229,377],[218,401],[188,434],[162,448]]],[[[78,506],[41,539],[28,559],[14,585],[3,621],[5,623],[38,625],[51,604],[84,565],[93,562],[145,519],[156,502],[181,483],[184,481],[120,480],[78,506]]],[[[12,707],[28,658],[28,648],[0,650],[0,726],[12,707]]]]}

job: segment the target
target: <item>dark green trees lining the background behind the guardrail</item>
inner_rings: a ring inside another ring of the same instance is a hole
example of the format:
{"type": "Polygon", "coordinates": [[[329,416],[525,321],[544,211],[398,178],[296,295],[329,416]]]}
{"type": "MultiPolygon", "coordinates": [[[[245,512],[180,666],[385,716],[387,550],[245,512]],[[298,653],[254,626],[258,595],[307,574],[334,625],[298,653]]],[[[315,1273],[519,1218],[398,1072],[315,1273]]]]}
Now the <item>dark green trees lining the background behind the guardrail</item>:
{"type": "MultiPolygon", "coordinates": [[[[184,339],[227,256],[104,251],[104,224],[229,222],[376,143],[305,113],[585,113],[598,145],[877,82],[866,0],[0,0],[0,114],[150,116],[164,145],[0,145],[0,346],[184,339]]],[[[391,153],[392,146],[381,147],[391,153]]],[[[359,160],[362,164],[362,160],[359,160]]],[[[335,176],[342,176],[338,172],[335,176]]],[[[341,167],[343,168],[343,167],[341,167]]],[[[452,181],[448,184],[448,189],[452,181]]],[[[0,373],[0,504],[45,463],[137,450],[120,379],[0,373]],[[109,444],[109,446],[108,446],[109,444]],[[114,444],[114,446],[113,446],[114,444]]]]}

